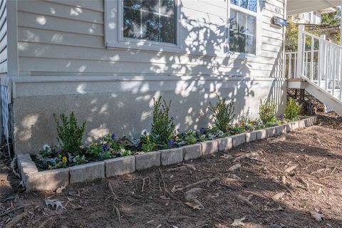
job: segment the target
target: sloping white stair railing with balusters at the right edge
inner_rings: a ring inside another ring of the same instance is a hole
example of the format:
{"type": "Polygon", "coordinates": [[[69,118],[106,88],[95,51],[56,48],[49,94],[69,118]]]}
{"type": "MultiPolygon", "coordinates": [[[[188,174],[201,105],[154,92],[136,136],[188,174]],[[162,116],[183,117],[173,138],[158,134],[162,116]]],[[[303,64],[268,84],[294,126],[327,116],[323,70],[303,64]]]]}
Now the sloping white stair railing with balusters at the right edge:
{"type": "Polygon", "coordinates": [[[296,62],[296,78],[304,78],[342,100],[342,46],[326,41],[323,36],[306,32],[304,26],[299,26],[296,62]]]}

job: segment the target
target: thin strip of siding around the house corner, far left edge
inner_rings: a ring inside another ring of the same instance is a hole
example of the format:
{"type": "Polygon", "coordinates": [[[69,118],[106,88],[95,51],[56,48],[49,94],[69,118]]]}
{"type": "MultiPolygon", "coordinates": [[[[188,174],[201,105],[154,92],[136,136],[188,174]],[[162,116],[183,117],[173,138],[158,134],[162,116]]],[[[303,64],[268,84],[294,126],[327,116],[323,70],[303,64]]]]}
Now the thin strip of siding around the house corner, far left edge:
{"type": "Polygon", "coordinates": [[[7,11],[6,0],[0,3],[0,74],[7,73],[7,11]]]}

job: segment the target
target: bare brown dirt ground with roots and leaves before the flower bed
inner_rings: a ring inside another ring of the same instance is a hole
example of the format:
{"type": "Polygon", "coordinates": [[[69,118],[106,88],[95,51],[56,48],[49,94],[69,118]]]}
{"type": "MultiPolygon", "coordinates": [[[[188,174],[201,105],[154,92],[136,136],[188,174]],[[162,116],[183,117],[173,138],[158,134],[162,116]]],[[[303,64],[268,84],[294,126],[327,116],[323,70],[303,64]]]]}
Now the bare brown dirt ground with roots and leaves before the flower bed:
{"type": "Polygon", "coordinates": [[[342,227],[342,120],[326,115],[318,123],[226,154],[70,185],[60,194],[22,192],[2,160],[0,227],[224,228],[242,218],[240,227],[342,227]],[[66,209],[51,209],[45,199],[66,209]]]}

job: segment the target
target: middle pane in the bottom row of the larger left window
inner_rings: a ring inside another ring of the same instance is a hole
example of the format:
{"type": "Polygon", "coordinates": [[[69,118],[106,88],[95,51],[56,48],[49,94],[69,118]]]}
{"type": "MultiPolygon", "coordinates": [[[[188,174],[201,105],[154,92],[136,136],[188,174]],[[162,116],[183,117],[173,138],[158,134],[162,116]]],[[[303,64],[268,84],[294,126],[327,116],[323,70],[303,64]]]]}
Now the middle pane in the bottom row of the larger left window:
{"type": "Polygon", "coordinates": [[[159,41],[160,23],[159,16],[152,13],[142,12],[141,38],[149,41],[159,41]]]}

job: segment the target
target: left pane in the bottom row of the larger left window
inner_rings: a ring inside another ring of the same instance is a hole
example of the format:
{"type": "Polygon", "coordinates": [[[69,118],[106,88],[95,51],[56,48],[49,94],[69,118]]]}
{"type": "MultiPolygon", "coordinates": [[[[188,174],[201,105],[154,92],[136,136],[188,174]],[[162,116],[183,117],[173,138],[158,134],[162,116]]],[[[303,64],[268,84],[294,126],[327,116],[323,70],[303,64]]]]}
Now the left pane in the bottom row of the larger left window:
{"type": "Polygon", "coordinates": [[[123,36],[140,38],[140,11],[134,9],[123,11],[123,36]]]}

